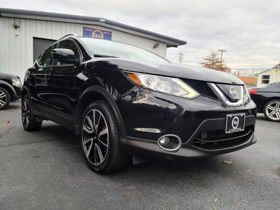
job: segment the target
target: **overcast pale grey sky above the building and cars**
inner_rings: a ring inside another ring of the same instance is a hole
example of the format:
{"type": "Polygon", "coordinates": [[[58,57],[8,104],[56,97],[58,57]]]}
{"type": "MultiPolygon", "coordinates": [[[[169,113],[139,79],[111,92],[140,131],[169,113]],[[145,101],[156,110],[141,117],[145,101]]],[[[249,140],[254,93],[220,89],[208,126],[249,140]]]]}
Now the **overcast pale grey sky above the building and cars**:
{"type": "Polygon", "coordinates": [[[223,59],[231,68],[268,69],[273,65],[253,65],[280,63],[277,0],[0,0],[0,7],[101,17],[187,41],[167,49],[172,63],[179,62],[177,53],[182,51],[184,63],[198,65],[209,50],[220,56],[217,49],[228,49],[223,59]]]}

